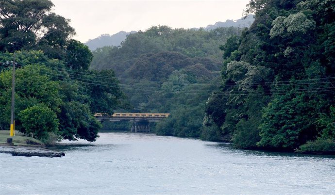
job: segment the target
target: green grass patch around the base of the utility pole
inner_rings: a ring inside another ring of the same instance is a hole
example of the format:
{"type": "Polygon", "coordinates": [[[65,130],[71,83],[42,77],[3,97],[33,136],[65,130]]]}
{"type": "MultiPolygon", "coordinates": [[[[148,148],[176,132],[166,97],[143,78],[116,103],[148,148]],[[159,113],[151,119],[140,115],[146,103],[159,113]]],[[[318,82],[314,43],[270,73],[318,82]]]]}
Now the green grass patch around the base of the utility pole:
{"type": "MultiPolygon", "coordinates": [[[[11,136],[9,135],[9,130],[0,130],[0,144],[5,144],[7,143],[7,138],[10,138],[11,136]]],[[[23,136],[22,133],[19,133],[15,131],[15,136],[13,138],[13,143],[15,145],[43,145],[43,143],[39,140],[36,140],[32,137],[26,137],[23,136]]]]}

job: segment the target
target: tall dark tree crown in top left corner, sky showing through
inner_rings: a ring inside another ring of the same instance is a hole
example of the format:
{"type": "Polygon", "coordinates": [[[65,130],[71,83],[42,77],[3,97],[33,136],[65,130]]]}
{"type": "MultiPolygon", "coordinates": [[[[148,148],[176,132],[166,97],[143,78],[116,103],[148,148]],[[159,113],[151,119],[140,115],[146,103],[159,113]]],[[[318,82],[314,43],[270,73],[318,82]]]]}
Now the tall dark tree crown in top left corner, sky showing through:
{"type": "Polygon", "coordinates": [[[51,12],[50,0],[0,1],[0,51],[42,49],[49,57],[65,57],[69,20],[51,12]]]}

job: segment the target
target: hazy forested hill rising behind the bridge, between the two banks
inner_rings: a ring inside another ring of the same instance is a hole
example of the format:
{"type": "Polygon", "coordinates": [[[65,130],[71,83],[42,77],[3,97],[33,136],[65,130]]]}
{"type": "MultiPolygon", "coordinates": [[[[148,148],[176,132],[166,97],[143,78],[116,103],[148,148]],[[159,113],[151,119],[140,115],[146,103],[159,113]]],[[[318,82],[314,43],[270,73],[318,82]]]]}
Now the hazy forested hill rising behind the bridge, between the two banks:
{"type": "Polygon", "coordinates": [[[171,113],[157,126],[157,134],[199,137],[206,100],[219,87],[219,48],[241,32],[234,27],[205,31],[153,26],[128,35],[120,47],[96,49],[91,67],[115,71],[132,112],[171,113]]]}

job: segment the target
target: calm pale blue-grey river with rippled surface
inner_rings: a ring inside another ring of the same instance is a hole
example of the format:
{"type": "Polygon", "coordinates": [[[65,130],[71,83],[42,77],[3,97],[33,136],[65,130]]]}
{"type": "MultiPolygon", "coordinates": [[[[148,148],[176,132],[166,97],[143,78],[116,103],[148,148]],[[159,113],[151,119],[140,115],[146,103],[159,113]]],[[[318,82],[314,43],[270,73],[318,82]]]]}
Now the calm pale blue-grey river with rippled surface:
{"type": "Polygon", "coordinates": [[[335,157],[141,133],[62,142],[63,158],[0,153],[0,194],[335,194],[335,157]]]}

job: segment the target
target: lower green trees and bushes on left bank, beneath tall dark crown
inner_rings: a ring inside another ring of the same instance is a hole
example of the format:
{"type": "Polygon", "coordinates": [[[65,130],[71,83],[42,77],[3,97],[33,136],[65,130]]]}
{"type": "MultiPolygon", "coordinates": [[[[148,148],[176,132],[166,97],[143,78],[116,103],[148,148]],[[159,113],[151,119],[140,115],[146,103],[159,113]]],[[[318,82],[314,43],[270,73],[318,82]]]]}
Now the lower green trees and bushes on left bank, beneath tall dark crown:
{"type": "MultiPolygon", "coordinates": [[[[67,70],[64,62],[49,59],[42,51],[16,54],[20,67],[16,70],[16,130],[49,144],[61,139],[95,141],[101,124],[93,114],[111,114],[120,107],[120,98],[124,95],[117,86],[118,81],[113,79],[116,88],[99,87],[94,79],[99,78],[100,72],[67,70]],[[95,89],[99,91],[94,92],[95,89]],[[94,106],[99,100],[108,103],[94,106]]],[[[1,57],[10,59],[12,54],[4,53],[1,57]]],[[[101,75],[107,77],[114,73],[104,71],[101,75]]],[[[0,73],[1,129],[9,126],[11,79],[11,69],[3,68],[0,73]]]]}

